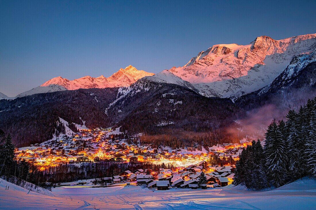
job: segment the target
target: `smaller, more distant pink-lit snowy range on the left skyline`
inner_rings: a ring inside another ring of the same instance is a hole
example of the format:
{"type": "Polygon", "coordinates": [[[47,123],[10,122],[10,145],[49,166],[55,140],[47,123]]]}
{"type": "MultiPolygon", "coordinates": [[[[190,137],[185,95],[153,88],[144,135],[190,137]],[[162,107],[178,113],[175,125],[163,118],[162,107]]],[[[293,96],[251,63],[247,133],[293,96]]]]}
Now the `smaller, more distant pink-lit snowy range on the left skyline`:
{"type": "Polygon", "coordinates": [[[17,95],[17,97],[23,97],[26,95],[32,95],[36,93],[50,93],[63,90],[76,90],[76,89],[88,89],[88,88],[106,88],[106,87],[127,87],[143,78],[144,76],[151,76],[153,73],[148,73],[143,70],[137,70],[135,67],[129,65],[125,69],[119,69],[116,73],[106,78],[103,75],[99,77],[84,76],[75,80],[68,80],[61,76],[52,78],[46,81],[39,87],[35,87],[32,90],[26,91],[17,95]]]}

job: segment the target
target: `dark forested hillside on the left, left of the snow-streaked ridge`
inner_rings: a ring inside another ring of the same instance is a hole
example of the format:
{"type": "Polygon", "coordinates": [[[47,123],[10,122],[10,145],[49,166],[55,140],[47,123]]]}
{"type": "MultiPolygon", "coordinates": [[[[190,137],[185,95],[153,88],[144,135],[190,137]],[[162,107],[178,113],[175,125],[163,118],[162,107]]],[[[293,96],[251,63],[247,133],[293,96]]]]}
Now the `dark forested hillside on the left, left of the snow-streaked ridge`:
{"type": "Polygon", "coordinates": [[[79,89],[1,100],[0,128],[12,135],[16,146],[27,146],[61,132],[64,127],[57,126],[59,117],[69,122],[73,131],[73,123],[82,125],[82,120],[91,128],[108,127],[110,120],[104,107],[114,100],[117,91],[118,88],[79,89]]]}

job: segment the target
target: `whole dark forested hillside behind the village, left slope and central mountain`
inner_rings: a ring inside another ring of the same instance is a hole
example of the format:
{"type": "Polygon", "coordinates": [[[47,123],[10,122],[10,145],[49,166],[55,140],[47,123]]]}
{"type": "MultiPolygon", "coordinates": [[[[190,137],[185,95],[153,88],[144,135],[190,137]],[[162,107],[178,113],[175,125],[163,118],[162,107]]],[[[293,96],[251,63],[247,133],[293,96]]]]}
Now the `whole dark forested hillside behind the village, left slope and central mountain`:
{"type": "Polygon", "coordinates": [[[130,134],[166,133],[183,141],[188,139],[183,135],[194,137],[189,131],[201,135],[217,132],[216,139],[222,139],[225,127],[242,115],[230,99],[206,98],[175,84],[148,81],[126,88],[79,89],[2,100],[0,110],[0,128],[11,133],[19,147],[63,133],[59,117],[74,132],[74,123],[85,121],[91,129],[122,126],[130,134]]]}

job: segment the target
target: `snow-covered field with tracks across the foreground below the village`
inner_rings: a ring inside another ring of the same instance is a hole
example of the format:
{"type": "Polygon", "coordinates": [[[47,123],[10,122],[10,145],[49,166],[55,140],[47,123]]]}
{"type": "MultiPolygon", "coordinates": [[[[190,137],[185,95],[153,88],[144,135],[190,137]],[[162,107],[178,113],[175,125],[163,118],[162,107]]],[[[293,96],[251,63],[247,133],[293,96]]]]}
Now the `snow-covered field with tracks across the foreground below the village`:
{"type": "Polygon", "coordinates": [[[215,189],[150,190],[141,186],[58,187],[41,195],[2,181],[0,209],[315,209],[316,181],[304,178],[278,189],[252,192],[215,189]],[[9,185],[9,190],[5,190],[9,185]]]}

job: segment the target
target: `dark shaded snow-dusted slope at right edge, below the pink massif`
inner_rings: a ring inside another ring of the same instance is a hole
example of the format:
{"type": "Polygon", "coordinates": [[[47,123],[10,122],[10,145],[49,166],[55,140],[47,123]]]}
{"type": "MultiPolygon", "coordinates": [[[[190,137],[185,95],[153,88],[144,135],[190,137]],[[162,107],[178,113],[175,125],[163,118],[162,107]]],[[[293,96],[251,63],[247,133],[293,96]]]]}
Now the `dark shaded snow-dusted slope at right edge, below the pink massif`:
{"type": "Polygon", "coordinates": [[[289,109],[299,109],[316,96],[316,53],[293,57],[286,69],[269,85],[240,96],[235,104],[246,110],[274,106],[274,117],[284,117],[289,109]]]}

